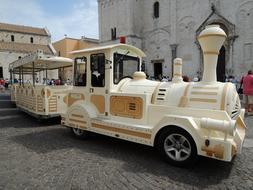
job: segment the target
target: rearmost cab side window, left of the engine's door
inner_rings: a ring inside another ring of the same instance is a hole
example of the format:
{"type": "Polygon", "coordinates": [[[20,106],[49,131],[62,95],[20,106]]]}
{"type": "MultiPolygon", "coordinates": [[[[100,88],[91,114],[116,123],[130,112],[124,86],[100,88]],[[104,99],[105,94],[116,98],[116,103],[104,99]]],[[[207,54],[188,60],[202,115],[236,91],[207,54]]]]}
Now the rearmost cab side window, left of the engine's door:
{"type": "Polygon", "coordinates": [[[87,58],[77,57],[74,64],[74,85],[86,86],[87,79],[87,58]]]}

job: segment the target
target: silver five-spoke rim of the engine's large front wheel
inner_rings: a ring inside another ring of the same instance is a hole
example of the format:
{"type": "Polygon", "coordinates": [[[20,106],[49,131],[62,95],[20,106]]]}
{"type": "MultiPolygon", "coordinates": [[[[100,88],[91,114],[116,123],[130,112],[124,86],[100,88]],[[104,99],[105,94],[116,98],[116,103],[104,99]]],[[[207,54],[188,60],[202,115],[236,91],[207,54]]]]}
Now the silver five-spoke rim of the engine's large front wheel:
{"type": "Polygon", "coordinates": [[[164,141],[164,151],[174,161],[184,161],[191,155],[191,144],[181,134],[170,134],[164,141]]]}

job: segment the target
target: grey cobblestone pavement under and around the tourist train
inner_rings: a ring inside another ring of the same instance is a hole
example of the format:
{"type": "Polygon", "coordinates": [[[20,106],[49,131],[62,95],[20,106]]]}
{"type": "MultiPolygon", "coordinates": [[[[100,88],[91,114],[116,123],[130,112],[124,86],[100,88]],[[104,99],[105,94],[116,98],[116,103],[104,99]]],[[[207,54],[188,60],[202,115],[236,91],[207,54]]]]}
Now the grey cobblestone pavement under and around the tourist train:
{"type": "Polygon", "coordinates": [[[253,116],[232,163],[200,158],[173,167],[148,146],[101,135],[74,138],[57,120],[38,122],[0,95],[0,189],[253,189],[253,116]]]}

